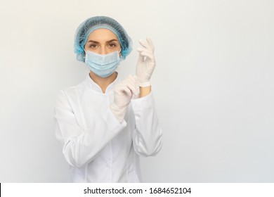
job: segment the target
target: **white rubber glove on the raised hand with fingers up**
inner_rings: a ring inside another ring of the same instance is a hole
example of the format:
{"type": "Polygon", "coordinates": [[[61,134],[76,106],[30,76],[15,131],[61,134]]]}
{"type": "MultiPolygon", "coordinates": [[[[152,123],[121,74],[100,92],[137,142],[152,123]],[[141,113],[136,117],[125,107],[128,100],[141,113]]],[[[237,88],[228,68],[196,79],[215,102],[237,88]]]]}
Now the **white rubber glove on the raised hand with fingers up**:
{"type": "Polygon", "coordinates": [[[147,38],[146,42],[144,40],[139,40],[142,48],[138,48],[139,59],[136,67],[136,81],[140,87],[150,86],[150,77],[153,70],[155,69],[155,56],[154,56],[154,46],[152,40],[147,38]]]}

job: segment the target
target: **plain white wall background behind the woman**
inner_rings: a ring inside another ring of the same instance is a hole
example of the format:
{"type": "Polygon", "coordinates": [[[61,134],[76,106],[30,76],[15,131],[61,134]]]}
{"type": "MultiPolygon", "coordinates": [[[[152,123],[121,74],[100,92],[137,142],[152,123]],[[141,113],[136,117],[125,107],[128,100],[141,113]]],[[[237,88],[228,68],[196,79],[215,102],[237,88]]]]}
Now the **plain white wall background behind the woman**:
{"type": "Polygon", "coordinates": [[[274,1],[3,1],[0,4],[0,182],[69,182],[55,138],[60,89],[89,70],[74,32],[108,15],[133,39],[119,75],[134,74],[152,37],[162,151],[144,182],[274,182],[274,1]]]}

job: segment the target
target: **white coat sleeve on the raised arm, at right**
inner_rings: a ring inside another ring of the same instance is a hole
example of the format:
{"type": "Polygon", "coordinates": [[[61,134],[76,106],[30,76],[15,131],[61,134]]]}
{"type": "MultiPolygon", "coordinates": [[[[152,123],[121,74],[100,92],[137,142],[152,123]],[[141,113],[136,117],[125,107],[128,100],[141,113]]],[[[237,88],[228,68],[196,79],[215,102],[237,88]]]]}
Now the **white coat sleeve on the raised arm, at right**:
{"type": "Polygon", "coordinates": [[[136,120],[133,146],[139,155],[154,156],[162,148],[162,129],[159,126],[152,93],[131,101],[136,120]]]}

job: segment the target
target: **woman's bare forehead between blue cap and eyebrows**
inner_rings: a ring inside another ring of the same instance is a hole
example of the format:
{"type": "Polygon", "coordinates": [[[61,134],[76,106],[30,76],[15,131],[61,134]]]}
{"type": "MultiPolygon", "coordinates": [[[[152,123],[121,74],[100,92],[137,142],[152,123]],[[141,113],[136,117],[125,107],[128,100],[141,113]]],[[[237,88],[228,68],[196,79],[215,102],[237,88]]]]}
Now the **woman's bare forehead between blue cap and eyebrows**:
{"type": "Polygon", "coordinates": [[[101,28],[101,29],[94,30],[93,32],[91,32],[91,34],[89,34],[87,42],[89,40],[94,40],[94,41],[97,41],[97,42],[106,42],[106,41],[109,41],[111,39],[117,39],[118,40],[115,33],[113,33],[110,30],[101,28]]]}

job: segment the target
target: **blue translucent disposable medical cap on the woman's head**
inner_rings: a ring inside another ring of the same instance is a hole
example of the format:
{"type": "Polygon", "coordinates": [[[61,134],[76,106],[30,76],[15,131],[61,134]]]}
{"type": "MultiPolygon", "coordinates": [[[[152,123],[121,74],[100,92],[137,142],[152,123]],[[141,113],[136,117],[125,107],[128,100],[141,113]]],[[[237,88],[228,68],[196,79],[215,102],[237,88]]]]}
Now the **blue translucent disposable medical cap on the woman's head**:
{"type": "Polygon", "coordinates": [[[126,30],[116,20],[107,16],[95,16],[88,18],[77,28],[74,37],[74,53],[76,53],[77,60],[84,62],[84,46],[89,34],[94,30],[105,28],[116,34],[122,46],[122,58],[126,58],[132,51],[132,41],[126,30]]]}

